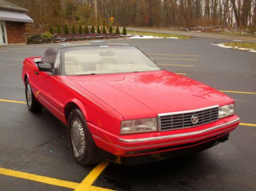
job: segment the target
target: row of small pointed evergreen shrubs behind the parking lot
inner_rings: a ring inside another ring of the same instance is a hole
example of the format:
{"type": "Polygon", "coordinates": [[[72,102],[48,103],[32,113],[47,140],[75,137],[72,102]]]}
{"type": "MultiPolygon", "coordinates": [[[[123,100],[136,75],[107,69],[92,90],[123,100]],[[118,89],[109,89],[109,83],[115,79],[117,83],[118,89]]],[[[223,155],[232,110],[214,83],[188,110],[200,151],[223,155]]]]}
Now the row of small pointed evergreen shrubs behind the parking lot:
{"type": "MultiPolygon", "coordinates": [[[[97,26],[97,30],[96,30],[96,31],[97,31],[97,34],[101,34],[101,33],[107,34],[107,30],[106,30],[105,25],[103,25],[102,31],[101,31],[100,27],[97,26]]],[[[54,31],[53,31],[52,26],[50,26],[49,32],[50,32],[52,35],[54,34],[54,31]]],[[[60,25],[57,26],[57,31],[56,31],[56,33],[57,33],[57,34],[62,34],[60,25]]],[[[89,31],[88,26],[86,26],[86,27],[85,27],[85,30],[84,30],[84,33],[85,33],[85,34],[95,34],[95,28],[94,28],[94,26],[93,26],[93,25],[91,26],[91,31],[89,31]]],[[[110,28],[109,28],[109,30],[108,30],[108,33],[109,33],[109,34],[113,34],[113,28],[112,28],[112,26],[110,26],[110,28]]],[[[67,26],[67,25],[64,26],[64,34],[69,34],[69,30],[68,30],[68,26],[67,26]]],[[[75,27],[74,27],[74,26],[72,26],[72,33],[71,33],[71,34],[76,34],[76,31],[75,31],[75,27]]],[[[83,30],[82,30],[82,26],[81,26],[81,25],[79,26],[78,34],[83,34],[83,30]]],[[[117,35],[120,34],[120,30],[119,30],[119,27],[118,27],[118,26],[116,27],[115,34],[117,34],[117,35]]],[[[126,31],[126,28],[125,28],[125,27],[124,27],[124,29],[123,29],[123,33],[122,33],[122,34],[123,34],[123,35],[127,35],[127,31],[126,31]]]]}

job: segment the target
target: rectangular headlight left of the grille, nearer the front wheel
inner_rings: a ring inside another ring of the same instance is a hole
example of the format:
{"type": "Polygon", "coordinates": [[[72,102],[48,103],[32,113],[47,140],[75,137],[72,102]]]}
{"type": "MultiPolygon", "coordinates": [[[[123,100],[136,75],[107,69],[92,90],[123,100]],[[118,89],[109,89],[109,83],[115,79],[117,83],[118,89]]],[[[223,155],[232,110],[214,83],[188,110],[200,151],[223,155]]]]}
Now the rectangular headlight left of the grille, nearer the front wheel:
{"type": "Polygon", "coordinates": [[[156,118],[126,120],[121,123],[121,134],[144,133],[157,131],[156,118]]]}

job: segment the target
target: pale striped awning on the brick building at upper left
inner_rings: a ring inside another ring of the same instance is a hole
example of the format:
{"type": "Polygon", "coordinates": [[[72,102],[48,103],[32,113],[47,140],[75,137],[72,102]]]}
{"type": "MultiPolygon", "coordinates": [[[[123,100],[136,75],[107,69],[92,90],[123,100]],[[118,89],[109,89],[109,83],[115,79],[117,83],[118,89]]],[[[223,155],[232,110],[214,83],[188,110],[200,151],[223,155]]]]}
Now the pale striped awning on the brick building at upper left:
{"type": "Polygon", "coordinates": [[[7,10],[0,10],[0,20],[16,22],[34,22],[34,20],[25,13],[7,10]]]}

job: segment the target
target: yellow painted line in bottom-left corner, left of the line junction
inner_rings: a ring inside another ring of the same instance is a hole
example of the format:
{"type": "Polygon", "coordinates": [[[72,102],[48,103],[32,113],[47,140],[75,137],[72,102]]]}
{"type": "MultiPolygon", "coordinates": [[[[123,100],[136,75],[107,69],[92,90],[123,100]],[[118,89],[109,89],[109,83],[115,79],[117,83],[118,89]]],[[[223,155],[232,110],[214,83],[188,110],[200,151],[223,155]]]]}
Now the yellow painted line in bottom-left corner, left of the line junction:
{"type": "Polygon", "coordinates": [[[33,180],[36,182],[42,182],[45,184],[51,184],[51,185],[55,185],[55,186],[73,188],[73,189],[75,189],[79,185],[79,183],[76,183],[76,182],[59,180],[56,178],[34,175],[34,174],[30,174],[30,173],[23,173],[23,172],[19,172],[19,171],[4,169],[4,168],[0,168],[0,175],[1,174],[7,175],[7,176],[12,176],[12,177],[17,177],[17,178],[23,178],[23,179],[27,179],[27,180],[33,180]]]}

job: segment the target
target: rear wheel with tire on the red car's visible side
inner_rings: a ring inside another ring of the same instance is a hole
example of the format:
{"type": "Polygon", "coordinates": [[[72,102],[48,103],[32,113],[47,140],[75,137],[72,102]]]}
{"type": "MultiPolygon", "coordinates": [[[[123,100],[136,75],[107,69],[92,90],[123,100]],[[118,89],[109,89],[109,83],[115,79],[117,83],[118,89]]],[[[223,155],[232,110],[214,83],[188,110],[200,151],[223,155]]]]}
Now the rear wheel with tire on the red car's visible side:
{"type": "Polygon", "coordinates": [[[29,84],[28,79],[26,79],[26,100],[27,100],[27,106],[28,110],[31,112],[41,112],[43,109],[43,106],[41,103],[39,103],[32,92],[31,86],[29,84]]]}

